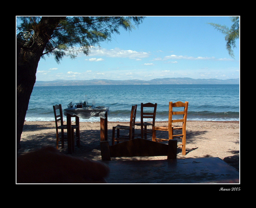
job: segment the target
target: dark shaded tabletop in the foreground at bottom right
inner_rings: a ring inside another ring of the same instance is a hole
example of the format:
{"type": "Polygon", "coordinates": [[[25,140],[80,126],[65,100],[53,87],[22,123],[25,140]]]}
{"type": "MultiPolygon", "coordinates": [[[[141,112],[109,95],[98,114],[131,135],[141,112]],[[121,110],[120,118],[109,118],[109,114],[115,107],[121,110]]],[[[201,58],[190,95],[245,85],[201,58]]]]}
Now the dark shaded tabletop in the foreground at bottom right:
{"type": "Polygon", "coordinates": [[[104,162],[108,183],[239,183],[239,172],[219,157],[104,162]]]}

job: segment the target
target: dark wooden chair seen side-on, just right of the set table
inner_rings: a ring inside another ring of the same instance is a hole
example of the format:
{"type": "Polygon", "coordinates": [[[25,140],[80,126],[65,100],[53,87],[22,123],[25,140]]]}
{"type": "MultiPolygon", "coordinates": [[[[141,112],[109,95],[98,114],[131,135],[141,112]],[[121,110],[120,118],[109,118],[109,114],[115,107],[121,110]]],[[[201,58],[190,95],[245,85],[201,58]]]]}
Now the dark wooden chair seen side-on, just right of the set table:
{"type": "Polygon", "coordinates": [[[131,117],[129,126],[113,126],[112,128],[112,145],[115,144],[115,141],[119,143],[121,140],[132,140],[134,139],[134,128],[135,128],[135,118],[136,118],[137,105],[131,107],[131,117]],[[117,136],[115,137],[115,131],[117,130],[117,136]],[[128,130],[129,136],[120,135],[120,130],[128,130]]]}

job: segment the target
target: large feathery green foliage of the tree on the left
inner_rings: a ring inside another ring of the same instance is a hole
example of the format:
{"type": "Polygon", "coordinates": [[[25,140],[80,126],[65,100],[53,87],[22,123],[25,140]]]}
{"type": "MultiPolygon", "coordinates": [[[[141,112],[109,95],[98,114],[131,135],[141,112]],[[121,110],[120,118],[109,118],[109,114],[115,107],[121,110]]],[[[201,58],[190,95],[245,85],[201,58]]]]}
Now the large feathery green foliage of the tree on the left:
{"type": "MultiPolygon", "coordinates": [[[[17,26],[17,34],[22,31],[40,28],[41,17],[18,17],[21,22],[17,26]]],[[[55,18],[55,17],[52,17],[55,18]]],[[[119,34],[119,27],[131,31],[142,23],[144,17],[66,17],[63,19],[45,47],[43,55],[54,55],[60,62],[63,56],[75,58],[78,52],[90,53],[91,46],[99,45],[101,41],[110,41],[111,34],[119,34]]]]}

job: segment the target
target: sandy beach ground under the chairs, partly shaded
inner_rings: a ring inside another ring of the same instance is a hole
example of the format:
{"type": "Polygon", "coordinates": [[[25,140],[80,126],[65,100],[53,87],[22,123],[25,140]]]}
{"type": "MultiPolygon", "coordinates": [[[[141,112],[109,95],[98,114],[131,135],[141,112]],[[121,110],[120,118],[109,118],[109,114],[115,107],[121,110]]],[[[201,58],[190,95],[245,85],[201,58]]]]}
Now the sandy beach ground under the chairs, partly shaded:
{"type": "MultiPolygon", "coordinates": [[[[156,126],[168,122],[156,122],[156,126]]],[[[129,125],[128,122],[108,122],[108,140],[111,141],[112,126],[129,125]]],[[[139,132],[139,127],[136,127],[139,132]]],[[[168,138],[168,132],[157,131],[159,138],[168,138]]],[[[219,157],[239,170],[239,121],[188,121],[186,127],[186,155],[181,155],[178,148],[178,159],[196,157],[219,157]]],[[[75,147],[72,156],[91,160],[101,160],[100,122],[80,122],[81,147],[75,147]]],[[[151,137],[148,138],[151,140],[151,137]]],[[[178,144],[179,144],[178,140],[178,144]]],[[[54,121],[25,121],[21,148],[17,155],[36,150],[42,146],[56,146],[56,129],[54,121]]],[[[65,148],[59,150],[67,153],[65,148]]],[[[124,158],[122,158],[124,159],[124,158]]],[[[165,160],[167,157],[136,157],[134,160],[165,160]]],[[[116,160],[119,160],[118,158],[116,160]]],[[[129,159],[131,160],[131,159],[129,159]]]]}

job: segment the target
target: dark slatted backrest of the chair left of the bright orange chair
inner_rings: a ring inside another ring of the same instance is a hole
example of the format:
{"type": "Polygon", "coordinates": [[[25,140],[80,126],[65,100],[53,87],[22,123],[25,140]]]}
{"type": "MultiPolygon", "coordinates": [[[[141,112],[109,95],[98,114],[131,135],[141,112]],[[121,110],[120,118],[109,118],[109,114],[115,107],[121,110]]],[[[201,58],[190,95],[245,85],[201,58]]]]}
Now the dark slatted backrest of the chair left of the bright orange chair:
{"type": "Polygon", "coordinates": [[[141,103],[141,112],[140,112],[140,119],[141,123],[144,123],[144,118],[151,118],[152,119],[152,125],[155,126],[155,118],[156,118],[156,107],[157,103],[153,104],[151,102],[148,103],[141,103]],[[147,109],[145,109],[147,108],[147,109]],[[150,112],[147,110],[150,109],[150,112]]]}

